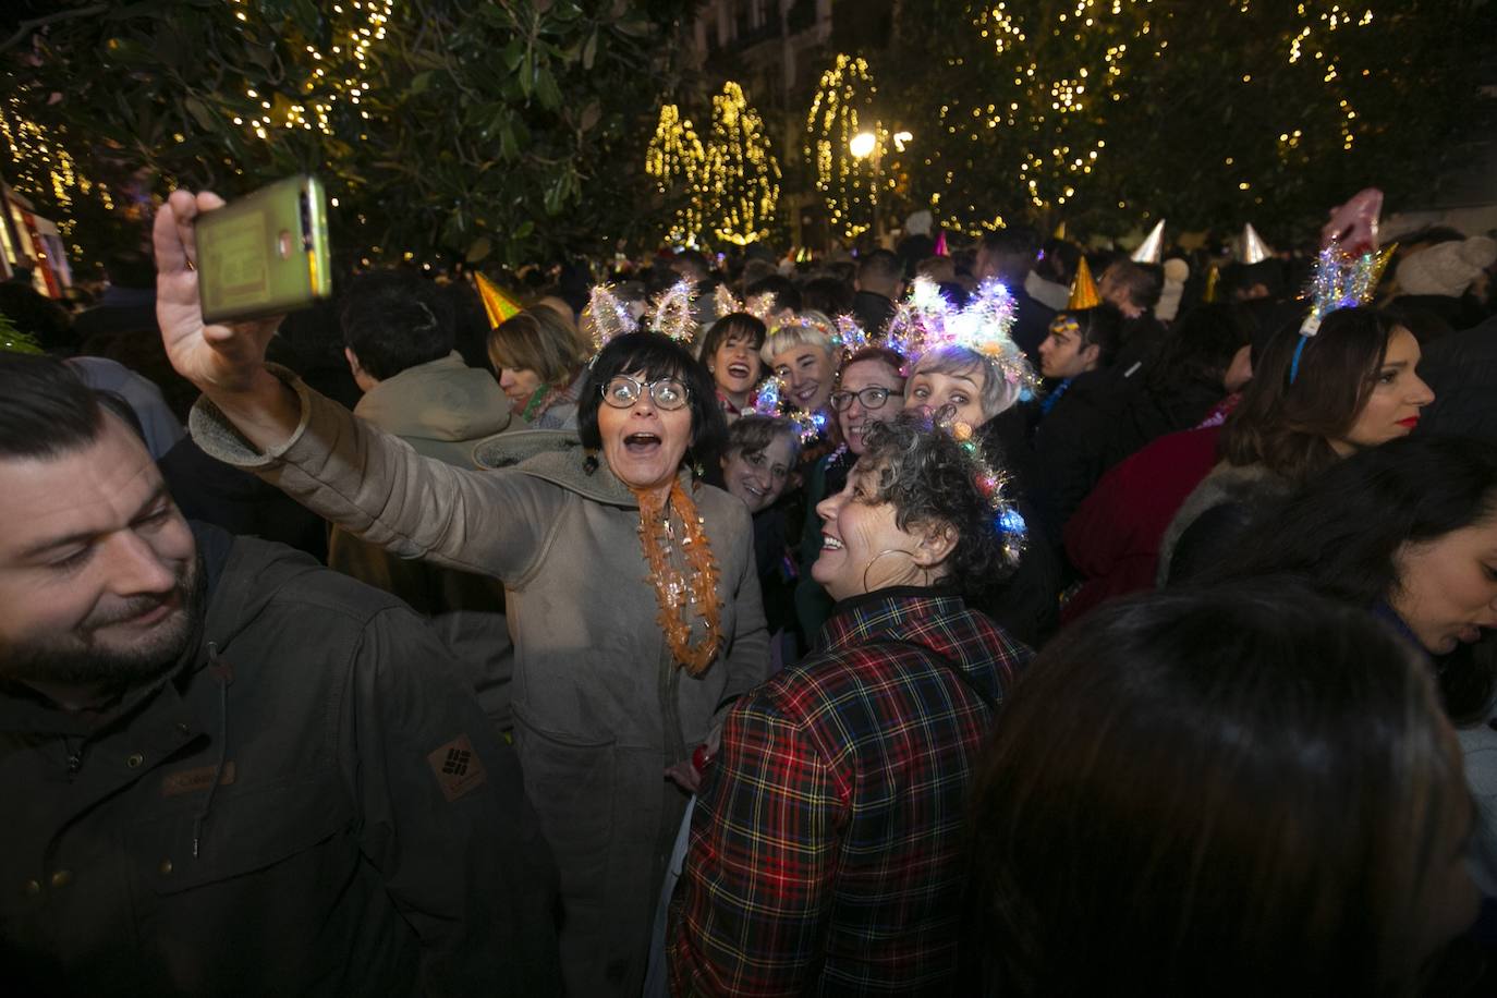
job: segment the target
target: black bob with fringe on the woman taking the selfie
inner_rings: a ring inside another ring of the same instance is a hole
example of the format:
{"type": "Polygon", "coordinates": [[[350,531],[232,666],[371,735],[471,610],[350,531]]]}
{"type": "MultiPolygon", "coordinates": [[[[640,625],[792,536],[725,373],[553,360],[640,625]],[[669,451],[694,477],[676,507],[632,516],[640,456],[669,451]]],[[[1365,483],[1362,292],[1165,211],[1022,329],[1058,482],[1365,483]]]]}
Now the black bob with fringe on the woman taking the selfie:
{"type": "Polygon", "coordinates": [[[582,397],[576,404],[576,429],[582,446],[593,450],[603,446],[597,431],[597,408],[603,404],[603,386],[618,374],[642,374],[647,382],[662,377],[680,379],[686,385],[687,408],[692,410],[692,446],[696,456],[707,459],[723,452],[728,422],[717,404],[717,386],[707,368],[692,352],[657,332],[626,332],[609,340],[582,380],[582,397]]]}

